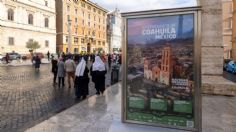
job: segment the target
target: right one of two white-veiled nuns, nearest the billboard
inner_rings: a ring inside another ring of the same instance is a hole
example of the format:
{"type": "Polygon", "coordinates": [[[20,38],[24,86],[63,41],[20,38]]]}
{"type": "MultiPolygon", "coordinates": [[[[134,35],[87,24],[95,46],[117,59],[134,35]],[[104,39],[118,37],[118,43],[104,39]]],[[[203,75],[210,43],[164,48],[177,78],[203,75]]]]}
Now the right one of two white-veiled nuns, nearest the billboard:
{"type": "Polygon", "coordinates": [[[105,91],[105,80],[106,80],[106,67],[103,61],[99,56],[95,57],[95,61],[91,67],[91,76],[92,81],[95,84],[95,89],[97,90],[96,94],[99,95],[100,93],[103,94],[105,91]]]}

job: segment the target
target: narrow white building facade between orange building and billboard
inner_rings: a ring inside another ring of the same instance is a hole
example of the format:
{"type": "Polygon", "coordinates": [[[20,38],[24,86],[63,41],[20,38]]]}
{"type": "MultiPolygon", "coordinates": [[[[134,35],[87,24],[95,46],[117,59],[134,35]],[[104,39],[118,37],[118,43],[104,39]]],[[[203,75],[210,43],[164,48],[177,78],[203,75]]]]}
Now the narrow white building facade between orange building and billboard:
{"type": "Polygon", "coordinates": [[[108,13],[107,15],[107,42],[110,53],[121,51],[122,34],[121,34],[122,19],[118,9],[108,13]]]}

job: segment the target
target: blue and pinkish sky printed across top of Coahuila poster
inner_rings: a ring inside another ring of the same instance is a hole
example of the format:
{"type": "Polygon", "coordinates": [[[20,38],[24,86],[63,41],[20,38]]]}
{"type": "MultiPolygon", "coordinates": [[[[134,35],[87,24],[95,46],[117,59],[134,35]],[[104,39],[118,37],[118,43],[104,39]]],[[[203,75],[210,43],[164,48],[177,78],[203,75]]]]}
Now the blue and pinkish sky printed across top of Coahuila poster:
{"type": "MultiPolygon", "coordinates": [[[[135,42],[145,44],[147,40],[151,41],[159,41],[160,39],[156,39],[156,35],[143,35],[142,31],[145,26],[150,25],[163,25],[163,24],[171,24],[176,25],[176,34],[177,38],[179,37],[193,37],[193,15],[183,15],[183,27],[181,34],[179,33],[179,25],[180,16],[164,16],[164,17],[154,17],[154,18],[140,18],[140,19],[129,19],[128,20],[128,41],[130,44],[135,44],[135,42]]],[[[163,40],[163,39],[161,39],[163,40]]],[[[165,40],[165,39],[164,39],[165,40]]],[[[167,40],[167,39],[166,39],[167,40]]]]}

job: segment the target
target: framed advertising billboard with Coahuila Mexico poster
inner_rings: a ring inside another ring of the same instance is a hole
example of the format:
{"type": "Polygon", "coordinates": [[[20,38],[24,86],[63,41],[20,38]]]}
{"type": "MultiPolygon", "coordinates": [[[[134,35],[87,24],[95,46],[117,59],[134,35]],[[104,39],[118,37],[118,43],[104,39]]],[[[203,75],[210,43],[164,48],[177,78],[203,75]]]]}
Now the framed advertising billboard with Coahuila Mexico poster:
{"type": "Polygon", "coordinates": [[[198,15],[123,14],[124,122],[199,129],[198,15]]]}

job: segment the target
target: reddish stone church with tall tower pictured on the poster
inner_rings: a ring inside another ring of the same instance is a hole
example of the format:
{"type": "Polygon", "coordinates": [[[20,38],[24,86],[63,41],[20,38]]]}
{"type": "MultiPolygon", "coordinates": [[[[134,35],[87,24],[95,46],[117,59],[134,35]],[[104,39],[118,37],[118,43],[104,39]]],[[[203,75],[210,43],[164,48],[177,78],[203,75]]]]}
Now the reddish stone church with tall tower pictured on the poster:
{"type": "Polygon", "coordinates": [[[190,91],[193,80],[192,73],[188,75],[190,73],[189,68],[192,68],[191,58],[185,60],[187,63],[182,63],[172,54],[171,46],[167,46],[161,50],[161,56],[144,58],[144,78],[171,85],[173,89],[185,88],[190,91]],[[175,85],[178,85],[176,78],[178,78],[178,81],[186,82],[182,84],[185,87],[176,87],[175,85]]]}

